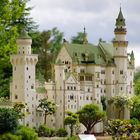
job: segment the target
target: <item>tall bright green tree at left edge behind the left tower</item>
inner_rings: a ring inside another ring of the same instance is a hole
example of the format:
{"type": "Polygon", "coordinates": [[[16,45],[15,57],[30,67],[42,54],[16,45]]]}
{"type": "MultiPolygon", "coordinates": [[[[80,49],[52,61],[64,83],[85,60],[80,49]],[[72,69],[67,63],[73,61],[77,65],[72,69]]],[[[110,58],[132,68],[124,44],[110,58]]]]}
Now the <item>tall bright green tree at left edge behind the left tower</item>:
{"type": "Polygon", "coordinates": [[[30,8],[26,7],[28,0],[1,0],[0,1],[0,97],[9,96],[9,82],[12,75],[10,55],[16,51],[16,38],[21,27],[28,28],[30,8]],[[24,18],[22,18],[24,16],[24,18]],[[23,26],[24,25],[24,26],[23,26]]]}

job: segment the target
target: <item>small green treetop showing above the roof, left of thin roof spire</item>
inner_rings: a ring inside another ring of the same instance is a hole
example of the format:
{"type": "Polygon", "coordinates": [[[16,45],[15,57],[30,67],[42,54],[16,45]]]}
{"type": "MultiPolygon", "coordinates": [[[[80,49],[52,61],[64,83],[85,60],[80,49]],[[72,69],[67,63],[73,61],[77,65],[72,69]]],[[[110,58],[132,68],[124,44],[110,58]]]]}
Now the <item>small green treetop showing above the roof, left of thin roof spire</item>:
{"type": "Polygon", "coordinates": [[[83,44],[85,38],[84,32],[78,32],[76,36],[71,38],[71,42],[74,44],[83,44]]]}

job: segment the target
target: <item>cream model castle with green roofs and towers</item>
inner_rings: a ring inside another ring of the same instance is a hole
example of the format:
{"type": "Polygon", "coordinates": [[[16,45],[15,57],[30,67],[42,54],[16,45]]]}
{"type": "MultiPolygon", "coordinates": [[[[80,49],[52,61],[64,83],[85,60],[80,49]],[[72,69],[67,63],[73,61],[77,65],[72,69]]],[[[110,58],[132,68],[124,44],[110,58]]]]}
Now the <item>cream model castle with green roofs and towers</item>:
{"type": "MultiPolygon", "coordinates": [[[[11,101],[27,105],[30,114],[21,120],[29,127],[43,123],[43,112],[37,110],[39,100],[48,97],[56,105],[54,115],[48,117],[52,128],[64,127],[66,111],[76,112],[86,104],[96,103],[102,108],[101,97],[133,96],[134,54],[128,54],[126,27],[121,8],[116,19],[111,43],[99,40],[88,43],[86,33],[82,44],[64,42],[54,64],[54,79],[45,83],[46,94],[36,92],[35,65],[38,57],[31,54],[32,39],[23,31],[17,39],[17,54],[10,58],[13,66],[11,101]]],[[[108,111],[108,117],[112,117],[108,111]]],[[[129,112],[124,111],[124,118],[129,112]]],[[[100,132],[102,124],[96,126],[100,132]]]]}

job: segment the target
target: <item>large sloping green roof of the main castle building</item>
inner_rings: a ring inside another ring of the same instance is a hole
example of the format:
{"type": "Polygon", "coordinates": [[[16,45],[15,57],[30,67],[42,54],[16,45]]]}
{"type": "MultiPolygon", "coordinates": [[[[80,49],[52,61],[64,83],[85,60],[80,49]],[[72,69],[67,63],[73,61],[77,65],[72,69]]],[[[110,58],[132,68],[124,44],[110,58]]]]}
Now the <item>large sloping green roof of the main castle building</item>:
{"type": "Polygon", "coordinates": [[[112,61],[114,48],[112,44],[100,42],[98,46],[92,44],[64,44],[73,62],[83,64],[107,64],[112,61]]]}

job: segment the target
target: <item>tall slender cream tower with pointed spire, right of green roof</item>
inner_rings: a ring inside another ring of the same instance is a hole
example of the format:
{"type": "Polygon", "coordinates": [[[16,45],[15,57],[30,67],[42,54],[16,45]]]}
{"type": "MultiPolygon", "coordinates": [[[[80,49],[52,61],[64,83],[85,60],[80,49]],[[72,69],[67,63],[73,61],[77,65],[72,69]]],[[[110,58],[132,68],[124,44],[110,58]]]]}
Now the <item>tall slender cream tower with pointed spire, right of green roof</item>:
{"type": "Polygon", "coordinates": [[[120,8],[114,30],[114,61],[116,64],[116,95],[127,94],[127,46],[125,19],[120,8]]]}

